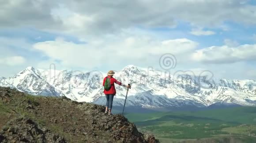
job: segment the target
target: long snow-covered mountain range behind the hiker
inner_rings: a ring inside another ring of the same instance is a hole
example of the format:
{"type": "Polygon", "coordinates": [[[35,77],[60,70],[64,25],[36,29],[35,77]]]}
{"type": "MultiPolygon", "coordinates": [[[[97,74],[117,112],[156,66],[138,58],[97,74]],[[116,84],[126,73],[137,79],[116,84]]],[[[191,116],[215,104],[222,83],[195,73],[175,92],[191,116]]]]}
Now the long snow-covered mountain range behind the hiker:
{"type": "MultiPolygon", "coordinates": [[[[34,95],[66,96],[72,100],[105,104],[102,80],[106,73],[99,71],[57,71],[28,67],[13,77],[0,78],[0,86],[9,86],[34,95]]],[[[256,105],[256,81],[211,79],[190,75],[173,76],[154,69],[128,65],[114,77],[124,84],[131,83],[127,106],[205,107],[211,104],[232,103],[256,105]]],[[[122,106],[126,88],[116,85],[113,105],[122,106]]]]}

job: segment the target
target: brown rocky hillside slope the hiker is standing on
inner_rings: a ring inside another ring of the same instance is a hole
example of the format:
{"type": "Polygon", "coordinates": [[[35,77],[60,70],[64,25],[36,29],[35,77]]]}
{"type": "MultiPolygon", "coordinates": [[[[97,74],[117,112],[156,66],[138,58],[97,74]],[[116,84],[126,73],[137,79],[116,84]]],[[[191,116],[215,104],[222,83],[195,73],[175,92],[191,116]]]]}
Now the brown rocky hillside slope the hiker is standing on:
{"type": "Polygon", "coordinates": [[[3,143],[159,143],[121,114],[108,115],[104,106],[66,97],[36,97],[0,87],[1,108],[3,143]]]}

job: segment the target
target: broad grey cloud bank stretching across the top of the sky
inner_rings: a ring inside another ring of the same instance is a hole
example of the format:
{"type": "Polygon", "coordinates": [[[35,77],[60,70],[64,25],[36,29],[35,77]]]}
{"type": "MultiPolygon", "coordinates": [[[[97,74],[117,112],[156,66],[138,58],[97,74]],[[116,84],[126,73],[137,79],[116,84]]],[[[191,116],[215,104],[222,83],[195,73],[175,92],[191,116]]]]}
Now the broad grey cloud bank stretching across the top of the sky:
{"type": "Polygon", "coordinates": [[[8,0],[0,4],[0,27],[29,26],[88,36],[137,26],[172,28],[176,21],[208,28],[221,27],[225,21],[256,25],[255,12],[256,6],[240,0],[8,0]]]}

